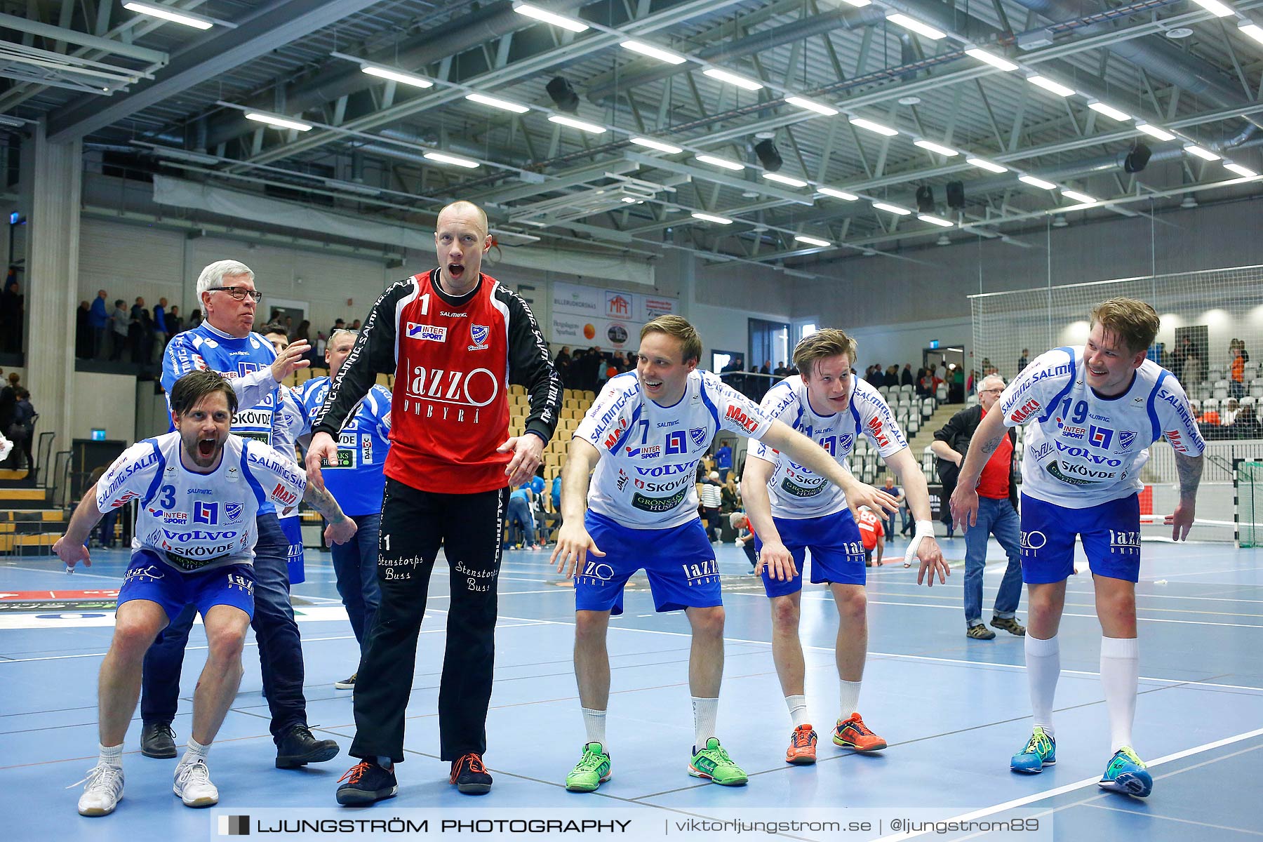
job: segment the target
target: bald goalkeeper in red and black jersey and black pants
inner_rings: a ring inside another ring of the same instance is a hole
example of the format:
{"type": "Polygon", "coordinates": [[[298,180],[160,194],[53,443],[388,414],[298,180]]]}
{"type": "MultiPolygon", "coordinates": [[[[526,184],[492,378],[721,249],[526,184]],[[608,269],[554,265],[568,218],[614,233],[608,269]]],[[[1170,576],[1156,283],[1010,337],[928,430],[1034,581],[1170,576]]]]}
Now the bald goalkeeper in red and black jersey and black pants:
{"type": "Polygon", "coordinates": [[[417,635],[440,543],[451,579],[447,650],[438,691],[441,759],[466,794],[491,789],[482,765],[495,655],[500,530],[509,486],[530,480],[552,437],[562,386],[530,308],[480,271],[491,247],[486,213],[456,202],[438,215],[438,268],[390,287],[312,419],[308,477],[378,374],[393,374],[378,582],[381,605],[356,675],[354,766],[340,804],[371,804],[398,790],[404,708],[417,635]],[[525,432],[509,437],[509,384],[530,395],[525,432]]]}

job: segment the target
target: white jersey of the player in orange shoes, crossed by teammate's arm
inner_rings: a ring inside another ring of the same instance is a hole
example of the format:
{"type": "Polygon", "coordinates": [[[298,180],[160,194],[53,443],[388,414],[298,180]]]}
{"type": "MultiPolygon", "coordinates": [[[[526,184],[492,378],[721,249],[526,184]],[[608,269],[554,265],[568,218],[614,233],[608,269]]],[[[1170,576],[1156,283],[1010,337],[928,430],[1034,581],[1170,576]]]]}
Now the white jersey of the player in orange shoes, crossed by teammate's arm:
{"type": "MultiPolygon", "coordinates": [[[[898,453],[908,441],[894,420],[894,413],[882,394],[866,381],[851,375],[851,399],[845,412],[817,415],[807,400],[807,384],[801,375],[786,377],[763,396],[764,414],[794,428],[820,444],[842,467],[855,447],[855,437],[864,434],[877,446],[882,458],[898,453]]],[[[772,516],[802,520],[832,515],[846,507],[846,495],[822,476],[812,473],[789,457],[763,442],[751,456],[775,466],[768,480],[772,516]]]]}

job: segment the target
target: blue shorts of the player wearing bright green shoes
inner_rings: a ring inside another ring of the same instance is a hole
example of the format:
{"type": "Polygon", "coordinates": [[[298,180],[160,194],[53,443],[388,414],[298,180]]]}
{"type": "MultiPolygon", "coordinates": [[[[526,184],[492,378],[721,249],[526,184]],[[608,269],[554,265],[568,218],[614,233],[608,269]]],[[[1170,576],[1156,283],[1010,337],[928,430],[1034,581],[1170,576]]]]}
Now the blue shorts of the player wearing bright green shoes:
{"type": "Polygon", "coordinates": [[[724,605],[719,564],[697,518],[672,529],[628,529],[589,511],[584,526],[605,557],[587,554],[575,576],[575,610],[623,614],[623,586],[644,568],[657,611],[724,605]]]}

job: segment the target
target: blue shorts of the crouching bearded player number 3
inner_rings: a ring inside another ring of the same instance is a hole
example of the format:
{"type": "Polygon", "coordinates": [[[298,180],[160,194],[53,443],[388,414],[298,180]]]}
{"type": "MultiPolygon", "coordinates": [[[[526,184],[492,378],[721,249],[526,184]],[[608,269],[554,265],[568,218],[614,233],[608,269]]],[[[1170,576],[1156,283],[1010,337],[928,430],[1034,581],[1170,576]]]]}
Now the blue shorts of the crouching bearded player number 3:
{"type": "MultiPolygon", "coordinates": [[[[217,605],[241,608],[254,619],[254,568],[249,564],[229,564],[208,571],[182,573],[154,553],[141,549],[131,555],[128,572],[119,588],[119,605],[131,600],[157,602],[174,620],[186,605],[195,605],[206,612],[217,605]]],[[[117,610],[117,608],[115,608],[117,610]]]]}

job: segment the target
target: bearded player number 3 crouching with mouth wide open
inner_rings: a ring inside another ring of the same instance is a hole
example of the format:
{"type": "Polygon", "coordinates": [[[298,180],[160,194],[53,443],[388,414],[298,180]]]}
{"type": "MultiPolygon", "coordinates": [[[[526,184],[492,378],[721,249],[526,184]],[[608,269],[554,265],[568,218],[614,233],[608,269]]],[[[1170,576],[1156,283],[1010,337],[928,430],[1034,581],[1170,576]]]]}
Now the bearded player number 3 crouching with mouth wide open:
{"type": "Polygon", "coordinates": [[[105,511],[139,500],[114,640],[101,661],[100,757],[78,800],[82,815],[107,815],[123,798],[123,737],[140,694],[141,660],[188,603],[202,614],[210,653],[197,679],[193,732],[176,766],[173,792],[188,807],[218,803],[206,756],[241,680],[241,646],[254,614],[258,507],[268,501],[294,506],[303,499],[328,519],[330,543],[355,534],[355,521],[327,492],[308,486],[290,457],[229,434],[237,401],[227,380],[213,371],[189,372],[172,389],[171,408],[174,432],[124,451],[83,495],[53,545],[68,568],[91,566],[83,542],[92,526],[105,511]]]}

